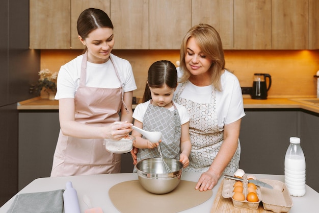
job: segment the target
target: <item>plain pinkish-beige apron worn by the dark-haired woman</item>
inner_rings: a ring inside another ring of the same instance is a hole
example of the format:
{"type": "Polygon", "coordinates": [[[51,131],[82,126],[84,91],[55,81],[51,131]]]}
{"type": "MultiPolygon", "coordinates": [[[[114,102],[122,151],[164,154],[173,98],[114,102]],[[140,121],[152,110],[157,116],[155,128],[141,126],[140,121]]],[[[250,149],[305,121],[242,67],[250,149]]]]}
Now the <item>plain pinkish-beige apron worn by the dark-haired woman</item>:
{"type": "MultiPolygon", "coordinates": [[[[112,58],[110,60],[113,63],[112,58]]],[[[83,55],[80,84],[74,97],[75,121],[90,126],[108,126],[119,121],[123,87],[86,87],[86,65],[87,53],[83,55]]],[[[116,66],[114,68],[119,78],[116,66]]],[[[119,173],[120,164],[121,155],[107,152],[102,138],[70,137],[60,130],[51,177],[119,173]]]]}

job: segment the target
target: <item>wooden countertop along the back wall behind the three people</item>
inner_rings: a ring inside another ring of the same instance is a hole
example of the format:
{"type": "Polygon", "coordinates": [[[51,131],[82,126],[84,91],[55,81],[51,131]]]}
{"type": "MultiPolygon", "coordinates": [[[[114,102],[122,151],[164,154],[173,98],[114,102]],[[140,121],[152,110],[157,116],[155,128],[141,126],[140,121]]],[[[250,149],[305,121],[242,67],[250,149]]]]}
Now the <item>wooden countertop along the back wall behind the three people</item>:
{"type": "MultiPolygon", "coordinates": [[[[266,100],[256,100],[246,98],[244,96],[244,108],[245,109],[305,109],[312,112],[319,113],[319,105],[307,104],[301,101],[302,98],[268,98],[266,100]]],[[[136,104],[132,105],[134,109],[136,104]]],[[[18,110],[55,110],[59,109],[59,101],[50,101],[48,99],[41,99],[36,97],[26,101],[18,102],[18,110]]]]}

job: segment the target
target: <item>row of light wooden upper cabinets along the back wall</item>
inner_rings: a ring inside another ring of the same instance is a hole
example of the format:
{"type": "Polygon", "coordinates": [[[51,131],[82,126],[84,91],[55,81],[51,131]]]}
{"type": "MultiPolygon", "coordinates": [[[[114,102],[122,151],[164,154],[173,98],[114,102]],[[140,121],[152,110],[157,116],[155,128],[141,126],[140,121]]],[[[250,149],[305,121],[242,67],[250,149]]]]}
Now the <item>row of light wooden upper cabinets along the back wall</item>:
{"type": "Polygon", "coordinates": [[[30,0],[30,49],[84,49],[76,20],[100,8],[114,25],[114,49],[179,50],[198,23],[219,32],[225,50],[319,49],[315,0],[30,0]]]}

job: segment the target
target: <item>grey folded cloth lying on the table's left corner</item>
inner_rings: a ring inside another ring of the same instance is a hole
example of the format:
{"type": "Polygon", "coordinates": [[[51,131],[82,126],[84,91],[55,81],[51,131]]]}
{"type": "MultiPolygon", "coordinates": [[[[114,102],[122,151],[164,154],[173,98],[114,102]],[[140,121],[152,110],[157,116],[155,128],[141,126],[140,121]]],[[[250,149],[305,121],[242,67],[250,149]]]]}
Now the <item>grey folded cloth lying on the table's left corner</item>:
{"type": "Polygon", "coordinates": [[[56,190],[18,194],[7,213],[62,213],[63,192],[56,190]]]}

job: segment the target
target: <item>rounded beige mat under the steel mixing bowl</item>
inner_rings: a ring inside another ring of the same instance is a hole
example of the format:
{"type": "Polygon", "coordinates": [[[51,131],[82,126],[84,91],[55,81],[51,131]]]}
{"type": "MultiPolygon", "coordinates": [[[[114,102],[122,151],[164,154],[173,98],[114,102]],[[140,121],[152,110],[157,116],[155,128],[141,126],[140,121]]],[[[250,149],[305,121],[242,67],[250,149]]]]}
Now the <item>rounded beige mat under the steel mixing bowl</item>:
{"type": "Polygon", "coordinates": [[[175,213],[197,206],[212,196],[212,191],[195,190],[196,182],[181,180],[170,193],[155,195],[144,190],[139,180],[114,185],[109,190],[113,205],[123,213],[175,213]]]}

